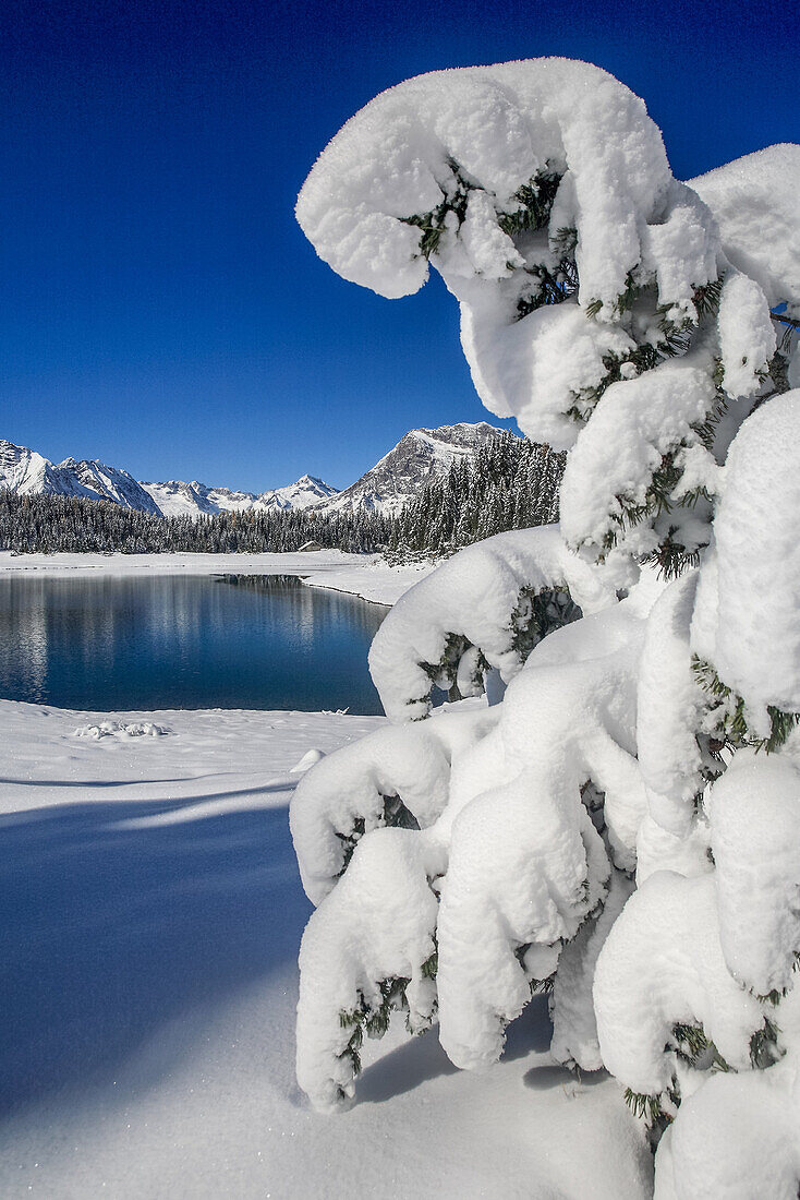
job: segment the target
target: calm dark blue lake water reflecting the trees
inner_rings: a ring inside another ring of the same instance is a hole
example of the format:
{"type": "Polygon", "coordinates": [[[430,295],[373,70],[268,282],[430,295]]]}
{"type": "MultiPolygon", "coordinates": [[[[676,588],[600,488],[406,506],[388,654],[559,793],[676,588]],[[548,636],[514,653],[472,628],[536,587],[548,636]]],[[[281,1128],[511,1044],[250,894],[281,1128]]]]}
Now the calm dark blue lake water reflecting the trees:
{"type": "Polygon", "coordinates": [[[59,708],[381,713],[386,608],[290,576],[0,578],[0,696],[59,708]]]}

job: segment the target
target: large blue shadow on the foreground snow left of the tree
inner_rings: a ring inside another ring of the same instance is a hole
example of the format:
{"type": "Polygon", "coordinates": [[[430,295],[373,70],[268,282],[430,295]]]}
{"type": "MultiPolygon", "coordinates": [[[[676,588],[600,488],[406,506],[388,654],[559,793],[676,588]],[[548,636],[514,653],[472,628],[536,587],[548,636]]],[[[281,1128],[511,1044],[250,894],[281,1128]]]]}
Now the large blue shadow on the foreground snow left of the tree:
{"type": "Polygon", "coordinates": [[[311,906],[287,808],[139,823],[180,808],[4,817],[0,1114],[112,1081],[166,1022],[295,958],[311,906]]]}

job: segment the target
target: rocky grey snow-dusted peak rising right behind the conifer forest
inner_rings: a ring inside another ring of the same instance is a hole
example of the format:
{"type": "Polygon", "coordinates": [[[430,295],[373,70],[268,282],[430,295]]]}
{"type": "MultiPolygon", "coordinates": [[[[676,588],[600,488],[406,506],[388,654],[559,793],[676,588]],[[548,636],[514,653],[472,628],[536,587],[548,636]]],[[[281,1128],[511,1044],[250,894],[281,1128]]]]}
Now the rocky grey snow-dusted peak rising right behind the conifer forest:
{"type": "Polygon", "coordinates": [[[411,430],[361,479],[320,508],[326,512],[350,508],[399,512],[425,482],[446,475],[457,458],[471,457],[497,432],[486,421],[411,430]]]}

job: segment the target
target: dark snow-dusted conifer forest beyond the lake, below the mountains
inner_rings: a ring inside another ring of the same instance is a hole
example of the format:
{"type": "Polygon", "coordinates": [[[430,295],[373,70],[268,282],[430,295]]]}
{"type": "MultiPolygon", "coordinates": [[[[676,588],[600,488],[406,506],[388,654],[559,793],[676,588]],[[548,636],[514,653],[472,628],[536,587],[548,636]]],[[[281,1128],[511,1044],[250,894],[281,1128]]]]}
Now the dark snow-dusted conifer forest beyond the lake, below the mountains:
{"type": "Polygon", "coordinates": [[[392,557],[446,553],[558,520],[564,456],[499,432],[426,482],[397,515],[313,509],[156,517],[84,497],[0,491],[0,550],[16,553],[291,553],[307,542],[392,557]]]}

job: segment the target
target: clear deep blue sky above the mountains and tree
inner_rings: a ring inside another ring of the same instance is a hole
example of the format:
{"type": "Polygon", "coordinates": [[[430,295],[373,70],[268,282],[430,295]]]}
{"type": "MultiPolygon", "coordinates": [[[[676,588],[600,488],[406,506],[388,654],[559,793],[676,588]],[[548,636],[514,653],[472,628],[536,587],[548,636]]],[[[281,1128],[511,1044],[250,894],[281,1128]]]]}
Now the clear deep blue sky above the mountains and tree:
{"type": "Polygon", "coordinates": [[[6,0],[0,437],[139,479],[345,486],[487,414],[438,280],[383,300],[294,221],[318,152],[438,67],[587,59],[679,178],[798,140],[792,2],[6,0]]]}

